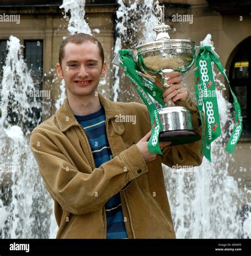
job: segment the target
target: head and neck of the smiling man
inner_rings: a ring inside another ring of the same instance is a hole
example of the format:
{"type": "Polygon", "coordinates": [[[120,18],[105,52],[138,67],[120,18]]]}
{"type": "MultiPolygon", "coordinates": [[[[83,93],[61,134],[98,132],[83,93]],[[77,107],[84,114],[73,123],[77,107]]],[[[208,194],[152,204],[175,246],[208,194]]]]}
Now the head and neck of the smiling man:
{"type": "Polygon", "coordinates": [[[65,80],[70,108],[79,116],[101,108],[95,92],[106,72],[102,46],[95,39],[91,41],[91,36],[85,37],[85,43],[75,43],[76,36],[62,42],[57,64],[58,76],[65,80]]]}

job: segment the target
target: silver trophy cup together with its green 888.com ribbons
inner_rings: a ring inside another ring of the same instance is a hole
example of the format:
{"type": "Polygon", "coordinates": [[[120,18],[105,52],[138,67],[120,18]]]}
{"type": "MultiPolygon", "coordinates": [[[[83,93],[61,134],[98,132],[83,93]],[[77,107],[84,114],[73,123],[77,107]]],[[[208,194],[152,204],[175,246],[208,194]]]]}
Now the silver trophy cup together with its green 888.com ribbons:
{"type": "MultiPolygon", "coordinates": [[[[171,39],[168,34],[171,27],[164,23],[164,6],[160,6],[156,1],[155,10],[158,21],[158,25],[154,28],[155,41],[143,43],[132,50],[119,50],[112,63],[123,67],[124,73],[148,108],[152,131],[148,148],[149,152],[155,154],[161,154],[159,141],[171,141],[172,145],[179,145],[201,139],[200,135],[193,130],[192,115],[189,110],[175,105],[172,99],[166,103],[164,108],[157,110],[149,97],[155,98],[163,105],[163,91],[172,86],[168,84],[169,73],[180,72],[181,77],[184,78],[196,70],[195,95],[201,120],[203,108],[205,110],[205,134],[200,149],[201,154],[204,149],[205,157],[211,161],[211,143],[221,134],[217,97],[212,96],[216,93],[212,62],[229,85],[228,77],[220,63],[219,56],[210,44],[196,47],[195,42],[191,40],[171,39]],[[195,57],[196,68],[191,70],[195,57]],[[204,75],[205,73],[207,75],[204,75]]],[[[243,123],[239,102],[230,85],[229,89],[234,98],[235,125],[226,151],[232,153],[240,138],[243,123]]],[[[202,121],[202,130],[204,130],[203,123],[202,121]]]]}

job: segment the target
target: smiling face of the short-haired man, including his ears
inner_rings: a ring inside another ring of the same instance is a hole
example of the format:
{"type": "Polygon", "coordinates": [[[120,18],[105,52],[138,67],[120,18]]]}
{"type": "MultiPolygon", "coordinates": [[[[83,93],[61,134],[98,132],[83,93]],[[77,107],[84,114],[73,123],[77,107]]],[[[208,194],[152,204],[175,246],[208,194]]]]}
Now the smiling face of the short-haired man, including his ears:
{"type": "Polygon", "coordinates": [[[93,95],[100,77],[105,76],[106,63],[102,66],[100,51],[93,42],[67,43],[61,62],[57,72],[65,80],[68,96],[93,95]]]}

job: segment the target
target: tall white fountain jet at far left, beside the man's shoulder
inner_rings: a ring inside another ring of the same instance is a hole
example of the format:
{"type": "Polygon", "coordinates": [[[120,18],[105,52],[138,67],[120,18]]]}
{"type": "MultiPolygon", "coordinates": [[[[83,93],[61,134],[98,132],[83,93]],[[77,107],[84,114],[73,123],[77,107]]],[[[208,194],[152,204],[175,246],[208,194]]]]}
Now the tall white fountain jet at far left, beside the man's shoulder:
{"type": "Polygon", "coordinates": [[[30,127],[41,122],[42,104],[21,55],[20,40],[7,41],[0,119],[0,237],[47,238],[52,204],[29,146],[30,127]]]}

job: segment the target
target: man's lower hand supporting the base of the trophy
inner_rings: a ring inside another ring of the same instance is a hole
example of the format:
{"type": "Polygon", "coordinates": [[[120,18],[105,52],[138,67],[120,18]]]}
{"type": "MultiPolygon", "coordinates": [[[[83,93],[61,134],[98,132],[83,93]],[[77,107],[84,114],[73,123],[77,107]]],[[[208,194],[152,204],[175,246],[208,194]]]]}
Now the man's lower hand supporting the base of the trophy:
{"type": "MultiPolygon", "coordinates": [[[[148,150],[147,143],[150,137],[151,131],[149,131],[149,133],[146,134],[142,139],[140,139],[139,142],[136,144],[146,163],[154,161],[157,157],[157,154],[150,153],[148,150]]],[[[164,147],[169,146],[171,143],[172,142],[159,142],[159,147],[160,149],[163,149],[164,147]]]]}

